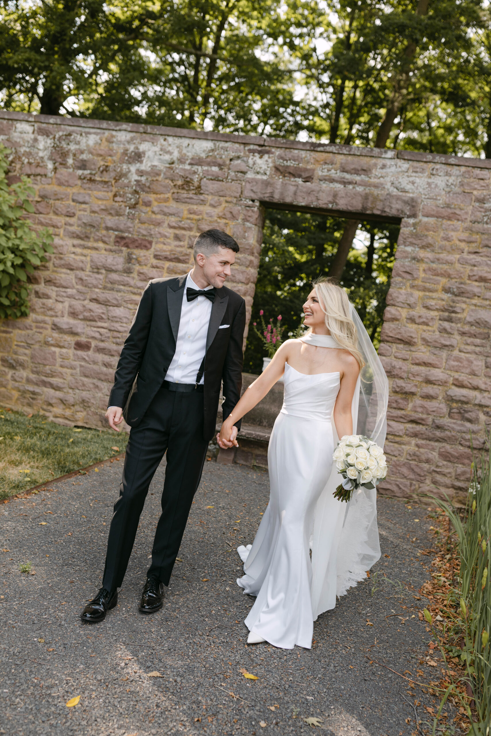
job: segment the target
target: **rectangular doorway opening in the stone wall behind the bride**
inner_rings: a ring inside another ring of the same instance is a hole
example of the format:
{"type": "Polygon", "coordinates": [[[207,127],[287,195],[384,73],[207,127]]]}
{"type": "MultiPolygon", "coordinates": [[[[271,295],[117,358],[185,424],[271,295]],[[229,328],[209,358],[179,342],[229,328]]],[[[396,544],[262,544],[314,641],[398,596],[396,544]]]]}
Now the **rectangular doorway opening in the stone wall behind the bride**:
{"type": "MultiPolygon", "coordinates": [[[[255,380],[264,358],[270,355],[270,342],[265,345],[261,339],[264,325],[283,330],[283,341],[301,332],[302,305],[311,289],[311,280],[330,275],[348,223],[356,224],[357,230],[339,283],[347,290],[378,348],[400,218],[381,219],[370,213],[360,213],[353,218],[353,213],[308,206],[278,206],[264,201],[261,201],[261,210],[263,242],[244,354],[244,389],[255,380]],[[278,316],[281,317],[279,324],[278,316]]],[[[282,403],[283,386],[278,383],[244,417],[241,447],[234,461],[267,467],[267,442],[282,403]]],[[[220,459],[230,461],[230,453],[222,453],[220,459]]]]}

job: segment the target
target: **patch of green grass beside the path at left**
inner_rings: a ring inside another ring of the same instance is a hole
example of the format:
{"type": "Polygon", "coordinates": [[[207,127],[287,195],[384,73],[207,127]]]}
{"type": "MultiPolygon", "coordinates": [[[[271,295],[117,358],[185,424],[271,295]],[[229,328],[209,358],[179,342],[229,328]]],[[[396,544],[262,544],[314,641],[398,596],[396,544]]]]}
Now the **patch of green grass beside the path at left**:
{"type": "Polygon", "coordinates": [[[0,499],[124,452],[128,435],[0,408],[0,499]]]}

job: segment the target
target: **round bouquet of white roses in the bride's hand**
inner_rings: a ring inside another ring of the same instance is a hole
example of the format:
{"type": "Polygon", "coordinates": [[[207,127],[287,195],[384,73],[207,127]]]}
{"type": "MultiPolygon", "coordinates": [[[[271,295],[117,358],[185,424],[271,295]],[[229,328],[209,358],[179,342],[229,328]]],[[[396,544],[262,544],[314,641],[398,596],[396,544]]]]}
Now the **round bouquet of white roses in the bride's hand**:
{"type": "Polygon", "coordinates": [[[338,442],[333,461],[344,481],[334,498],[349,501],[358,488],[373,489],[387,474],[384,450],[363,434],[346,434],[338,442]]]}

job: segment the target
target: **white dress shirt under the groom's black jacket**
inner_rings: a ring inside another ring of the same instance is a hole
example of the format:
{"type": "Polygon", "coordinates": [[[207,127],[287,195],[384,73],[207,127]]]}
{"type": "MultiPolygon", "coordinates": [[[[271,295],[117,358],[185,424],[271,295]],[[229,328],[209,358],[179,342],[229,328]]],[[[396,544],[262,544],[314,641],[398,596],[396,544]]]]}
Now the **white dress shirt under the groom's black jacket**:
{"type": "MultiPolygon", "coordinates": [[[[191,278],[191,272],[188,273],[184,286],[176,352],[166,372],[166,381],[172,383],[196,383],[197,372],[206,350],[212,302],[206,297],[197,297],[188,302],[186,297],[188,287],[199,289],[191,278]]],[[[213,289],[213,286],[207,286],[205,291],[208,289],[213,289]]],[[[205,383],[204,376],[199,383],[205,383]]]]}

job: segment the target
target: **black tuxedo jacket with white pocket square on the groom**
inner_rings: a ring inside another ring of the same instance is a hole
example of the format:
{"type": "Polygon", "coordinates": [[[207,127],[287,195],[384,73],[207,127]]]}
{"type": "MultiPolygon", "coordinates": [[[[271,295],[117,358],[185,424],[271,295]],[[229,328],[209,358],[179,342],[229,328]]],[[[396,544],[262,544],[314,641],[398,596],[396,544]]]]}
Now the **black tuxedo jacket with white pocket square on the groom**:
{"type": "MultiPolygon", "coordinates": [[[[149,282],[121,350],[108,406],[123,407],[124,419],[131,427],[141,422],[174,357],[186,278],[187,274],[149,282]]],[[[222,381],[224,420],[239,401],[244,328],[242,297],[225,286],[217,289],[206,337],[204,439],[215,434],[222,381]],[[230,326],[219,330],[220,325],[230,326]]],[[[237,426],[240,429],[240,422],[237,426]]]]}

